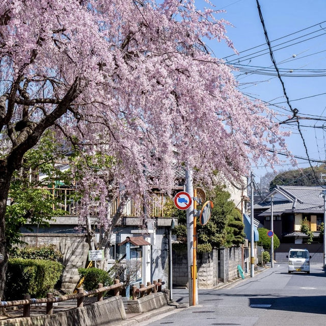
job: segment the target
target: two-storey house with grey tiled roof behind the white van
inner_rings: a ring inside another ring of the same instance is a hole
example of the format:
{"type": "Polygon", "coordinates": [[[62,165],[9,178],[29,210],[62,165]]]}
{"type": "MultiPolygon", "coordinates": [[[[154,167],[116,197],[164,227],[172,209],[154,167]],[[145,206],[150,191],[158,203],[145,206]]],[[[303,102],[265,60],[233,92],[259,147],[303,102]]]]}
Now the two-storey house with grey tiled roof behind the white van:
{"type": "Polygon", "coordinates": [[[308,235],[301,232],[304,219],[307,219],[313,234],[313,244],[309,245],[310,252],[315,254],[313,261],[317,262],[321,259],[320,226],[324,213],[322,190],[320,186],[278,185],[254,205],[255,218],[269,230],[273,198],[273,231],[281,242],[280,248],[276,250],[276,257],[279,256],[282,261],[285,260],[289,248],[307,247],[308,235]]]}

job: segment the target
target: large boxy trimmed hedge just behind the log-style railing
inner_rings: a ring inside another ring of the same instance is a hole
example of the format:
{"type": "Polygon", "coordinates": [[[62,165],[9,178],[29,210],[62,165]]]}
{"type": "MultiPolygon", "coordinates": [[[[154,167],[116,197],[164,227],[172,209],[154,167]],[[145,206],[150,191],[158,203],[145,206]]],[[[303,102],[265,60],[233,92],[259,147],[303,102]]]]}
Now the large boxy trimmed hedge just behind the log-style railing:
{"type": "Polygon", "coordinates": [[[19,300],[24,294],[45,297],[58,282],[63,265],[43,259],[10,258],[7,268],[6,300],[19,300]]]}

